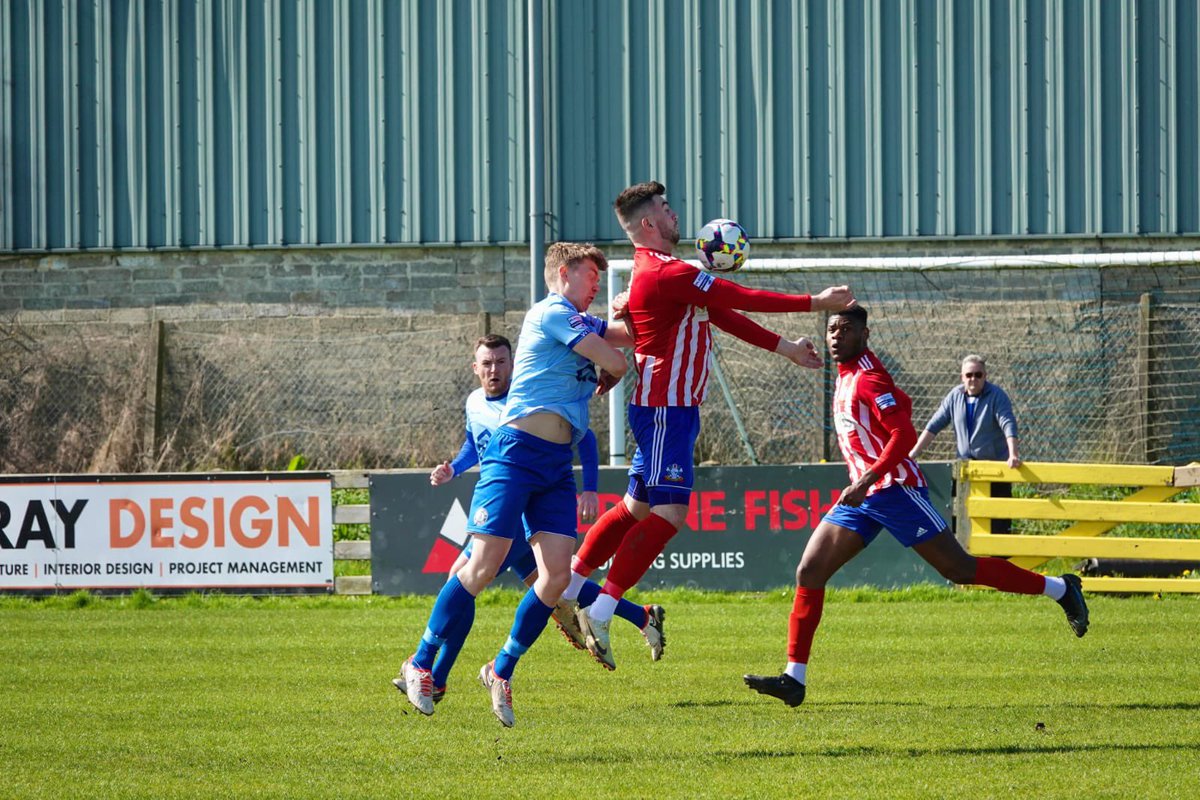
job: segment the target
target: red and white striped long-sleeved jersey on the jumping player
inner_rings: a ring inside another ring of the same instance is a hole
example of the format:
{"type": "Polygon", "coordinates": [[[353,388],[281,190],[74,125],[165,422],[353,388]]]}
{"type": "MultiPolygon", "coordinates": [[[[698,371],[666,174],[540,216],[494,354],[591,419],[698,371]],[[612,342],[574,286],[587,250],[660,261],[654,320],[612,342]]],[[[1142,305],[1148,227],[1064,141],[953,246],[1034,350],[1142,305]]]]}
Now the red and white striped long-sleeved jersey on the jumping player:
{"type": "Polygon", "coordinates": [[[700,405],[708,389],[710,323],[751,344],[774,349],[778,333],[731,309],[809,311],[811,305],[809,295],[750,289],[702,272],[668,253],[638,247],[629,284],[637,368],[630,403],[700,405]]]}

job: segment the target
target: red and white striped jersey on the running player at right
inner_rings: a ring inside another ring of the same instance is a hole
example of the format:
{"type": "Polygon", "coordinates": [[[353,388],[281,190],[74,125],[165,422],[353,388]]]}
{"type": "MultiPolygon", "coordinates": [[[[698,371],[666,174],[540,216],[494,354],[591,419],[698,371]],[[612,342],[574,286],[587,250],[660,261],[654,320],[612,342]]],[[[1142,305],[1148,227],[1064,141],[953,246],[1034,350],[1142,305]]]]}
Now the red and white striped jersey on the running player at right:
{"type": "Polygon", "coordinates": [[[908,458],[904,447],[900,458],[888,458],[894,465],[881,464],[883,449],[900,431],[906,441],[917,440],[912,427],[912,399],[900,391],[883,363],[870,350],[852,362],[838,365],[838,384],[833,393],[833,423],[838,432],[851,482],[857,481],[868,469],[875,468],[880,475],[868,495],[889,486],[928,486],[925,475],[917,462],[908,458]],[[881,469],[886,471],[880,471],[881,469]]]}

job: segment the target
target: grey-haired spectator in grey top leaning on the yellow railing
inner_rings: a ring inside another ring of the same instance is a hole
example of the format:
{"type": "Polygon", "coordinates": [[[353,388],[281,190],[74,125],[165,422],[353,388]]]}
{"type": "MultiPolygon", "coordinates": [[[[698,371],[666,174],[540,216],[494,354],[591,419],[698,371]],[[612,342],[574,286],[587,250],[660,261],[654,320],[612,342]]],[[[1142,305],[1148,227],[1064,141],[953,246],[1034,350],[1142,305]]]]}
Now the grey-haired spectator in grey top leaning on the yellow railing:
{"type": "MultiPolygon", "coordinates": [[[[916,459],[925,445],[952,422],[959,458],[1004,461],[1013,468],[1021,465],[1013,403],[1003,389],[988,383],[988,363],[983,356],[962,359],[962,385],[952,389],[942,399],[908,455],[916,459]]],[[[992,497],[1013,497],[1012,483],[992,483],[991,489],[992,497]]],[[[992,533],[1007,534],[1009,530],[1008,519],[994,521],[992,533]]]]}

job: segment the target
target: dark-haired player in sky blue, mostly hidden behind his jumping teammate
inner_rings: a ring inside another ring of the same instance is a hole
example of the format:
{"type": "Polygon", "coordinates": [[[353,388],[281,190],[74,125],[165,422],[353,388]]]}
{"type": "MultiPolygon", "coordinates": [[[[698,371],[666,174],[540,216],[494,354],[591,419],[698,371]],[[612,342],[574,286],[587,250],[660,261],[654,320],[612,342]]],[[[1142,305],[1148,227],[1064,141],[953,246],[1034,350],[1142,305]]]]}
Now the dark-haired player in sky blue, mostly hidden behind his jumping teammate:
{"type": "MultiPolygon", "coordinates": [[[[500,426],[500,416],[504,413],[504,405],[508,401],[509,385],[512,380],[512,344],[505,337],[497,333],[481,336],[475,342],[475,361],[472,363],[472,371],[479,379],[480,386],[467,396],[464,409],[467,417],[466,437],[462,447],[454,459],[438,464],[430,473],[430,483],[433,486],[442,486],[454,480],[478,464],[480,458],[482,458],[487,443],[491,440],[496,428],[500,426]]],[[[583,465],[583,492],[578,499],[580,518],[583,522],[590,522],[595,519],[599,511],[596,482],[600,462],[595,433],[590,428],[583,434],[577,450],[580,463],[583,465]]],[[[528,531],[522,524],[522,530],[516,533],[521,535],[514,535],[512,547],[509,549],[508,558],[504,559],[504,564],[499,571],[503,572],[510,569],[526,585],[533,585],[533,582],[538,577],[538,564],[534,560],[533,549],[530,549],[529,543],[526,541],[524,534],[528,531]]],[[[457,575],[458,570],[467,564],[467,560],[470,558],[470,551],[472,545],[468,543],[466,549],[455,560],[454,566],[450,567],[451,576],[457,575]]],[[[600,584],[589,583],[590,585],[586,585],[580,593],[580,604],[582,607],[590,604],[596,595],[600,594],[600,584]]],[[[647,645],[650,648],[652,660],[658,661],[662,657],[664,649],[666,648],[666,636],[662,631],[664,609],[661,606],[638,606],[624,601],[617,608],[617,615],[632,622],[641,630],[647,645]]],[[[554,621],[563,637],[572,646],[577,650],[587,650],[583,632],[575,619],[574,606],[560,602],[554,608],[554,621]]],[[[433,661],[431,669],[434,703],[439,703],[445,697],[450,670],[454,668],[458,652],[462,650],[462,645],[466,643],[469,632],[469,626],[454,631],[438,649],[437,658],[433,661]]],[[[396,688],[407,694],[408,685],[404,681],[403,667],[401,667],[400,674],[391,682],[396,688]]]]}

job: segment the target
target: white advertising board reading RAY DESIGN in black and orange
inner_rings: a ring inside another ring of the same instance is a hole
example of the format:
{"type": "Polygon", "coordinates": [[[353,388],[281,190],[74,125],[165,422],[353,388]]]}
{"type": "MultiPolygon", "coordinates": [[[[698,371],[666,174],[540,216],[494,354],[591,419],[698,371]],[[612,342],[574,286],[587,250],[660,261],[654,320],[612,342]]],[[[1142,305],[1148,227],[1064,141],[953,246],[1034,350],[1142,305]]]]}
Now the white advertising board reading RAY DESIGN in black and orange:
{"type": "Polygon", "coordinates": [[[0,591],[331,591],[326,475],[0,477],[0,591]]]}

